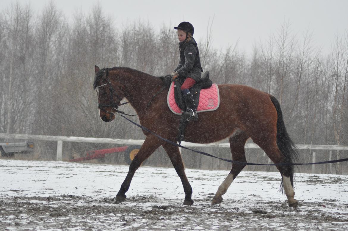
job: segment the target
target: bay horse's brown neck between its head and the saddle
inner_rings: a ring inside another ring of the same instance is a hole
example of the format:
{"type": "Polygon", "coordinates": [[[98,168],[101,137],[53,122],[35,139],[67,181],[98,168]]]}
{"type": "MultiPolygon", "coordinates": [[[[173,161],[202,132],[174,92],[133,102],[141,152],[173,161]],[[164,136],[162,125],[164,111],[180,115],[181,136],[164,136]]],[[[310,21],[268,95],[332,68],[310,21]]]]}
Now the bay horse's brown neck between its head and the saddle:
{"type": "Polygon", "coordinates": [[[126,70],[126,72],[127,75],[123,75],[126,86],[125,97],[137,113],[140,113],[146,109],[152,96],[163,83],[159,78],[149,74],[135,70],[126,70]]]}

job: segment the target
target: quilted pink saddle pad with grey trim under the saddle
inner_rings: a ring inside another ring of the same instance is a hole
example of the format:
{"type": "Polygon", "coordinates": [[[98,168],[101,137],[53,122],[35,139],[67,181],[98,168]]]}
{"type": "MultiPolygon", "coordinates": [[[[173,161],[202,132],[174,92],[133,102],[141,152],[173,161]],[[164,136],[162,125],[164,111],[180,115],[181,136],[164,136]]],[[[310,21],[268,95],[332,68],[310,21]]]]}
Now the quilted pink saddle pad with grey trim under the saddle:
{"type": "MultiPolygon", "coordinates": [[[[182,114],[182,110],[180,107],[176,104],[174,99],[174,82],[171,83],[171,86],[169,87],[168,95],[167,95],[167,103],[169,109],[174,114],[182,114]]],[[[216,110],[220,105],[220,94],[219,94],[219,88],[217,87],[216,83],[214,83],[211,87],[202,89],[199,94],[199,103],[197,107],[197,112],[204,112],[204,111],[214,111],[216,110]]]]}

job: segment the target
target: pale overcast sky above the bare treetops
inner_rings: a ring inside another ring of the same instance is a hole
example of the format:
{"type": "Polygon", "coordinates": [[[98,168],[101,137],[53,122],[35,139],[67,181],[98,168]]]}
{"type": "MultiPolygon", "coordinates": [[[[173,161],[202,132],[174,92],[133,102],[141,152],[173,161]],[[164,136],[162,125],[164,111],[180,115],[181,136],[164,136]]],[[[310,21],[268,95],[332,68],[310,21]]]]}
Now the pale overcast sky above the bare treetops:
{"type": "MultiPolygon", "coordinates": [[[[31,3],[35,12],[49,0],[18,0],[31,3]]],[[[238,40],[239,50],[250,53],[253,44],[265,41],[276,34],[284,21],[301,38],[309,29],[315,45],[328,53],[335,34],[348,30],[348,0],[240,0],[240,1],[165,1],[165,0],[53,0],[63,13],[71,18],[77,9],[89,13],[98,2],[114,24],[123,28],[127,22],[149,22],[154,27],[177,26],[189,21],[195,27],[195,39],[203,41],[207,35],[209,19],[213,21],[213,47],[217,49],[234,45],[238,40]]],[[[0,9],[10,2],[2,0],[0,9]]],[[[174,30],[174,29],[173,29],[174,30]]]]}

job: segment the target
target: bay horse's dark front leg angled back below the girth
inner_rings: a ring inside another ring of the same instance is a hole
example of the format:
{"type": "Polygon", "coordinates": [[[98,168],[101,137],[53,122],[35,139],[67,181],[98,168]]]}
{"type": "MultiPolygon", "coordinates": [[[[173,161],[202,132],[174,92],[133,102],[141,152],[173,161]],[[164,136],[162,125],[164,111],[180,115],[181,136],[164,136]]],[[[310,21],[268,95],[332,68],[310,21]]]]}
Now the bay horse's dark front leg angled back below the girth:
{"type": "Polygon", "coordinates": [[[173,146],[171,144],[163,144],[162,145],[164,150],[167,152],[169,158],[172,161],[172,164],[175,168],[175,171],[177,175],[179,175],[182,186],[184,187],[184,192],[185,192],[185,200],[184,200],[184,205],[192,205],[193,200],[191,199],[192,195],[192,188],[187,180],[186,174],[185,174],[185,168],[184,164],[181,159],[181,154],[179,151],[179,147],[173,146]]]}

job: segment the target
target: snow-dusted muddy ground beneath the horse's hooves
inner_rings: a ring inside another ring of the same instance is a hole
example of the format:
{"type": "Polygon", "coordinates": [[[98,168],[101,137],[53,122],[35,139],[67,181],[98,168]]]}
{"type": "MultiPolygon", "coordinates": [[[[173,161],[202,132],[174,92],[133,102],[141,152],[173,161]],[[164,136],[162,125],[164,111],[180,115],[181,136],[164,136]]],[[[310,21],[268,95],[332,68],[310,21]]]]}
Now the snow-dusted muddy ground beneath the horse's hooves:
{"type": "Polygon", "coordinates": [[[128,166],[0,160],[0,230],[348,230],[348,176],[296,174],[297,208],[280,174],[242,171],[224,201],[228,171],[186,169],[195,203],[184,206],[174,168],[140,167],[113,204],[128,166]]]}

